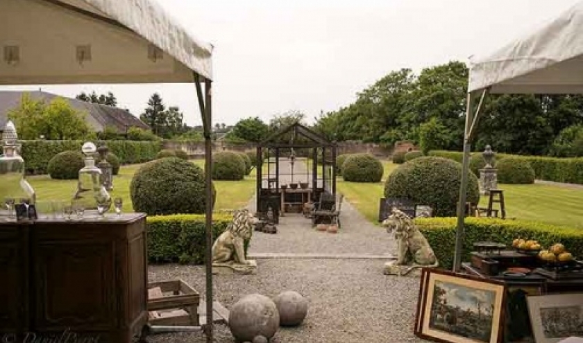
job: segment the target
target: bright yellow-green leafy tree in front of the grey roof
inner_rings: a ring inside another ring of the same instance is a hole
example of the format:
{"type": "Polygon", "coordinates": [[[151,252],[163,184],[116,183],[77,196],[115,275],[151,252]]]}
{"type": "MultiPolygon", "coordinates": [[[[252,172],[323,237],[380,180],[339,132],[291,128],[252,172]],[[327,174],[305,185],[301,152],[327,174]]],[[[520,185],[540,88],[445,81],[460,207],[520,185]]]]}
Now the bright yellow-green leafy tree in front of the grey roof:
{"type": "Polygon", "coordinates": [[[19,127],[21,139],[85,139],[92,132],[85,116],[63,98],[54,98],[47,105],[43,100],[32,100],[28,94],[8,113],[19,127]]]}

